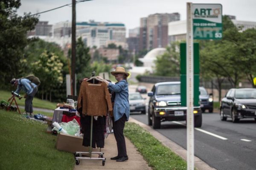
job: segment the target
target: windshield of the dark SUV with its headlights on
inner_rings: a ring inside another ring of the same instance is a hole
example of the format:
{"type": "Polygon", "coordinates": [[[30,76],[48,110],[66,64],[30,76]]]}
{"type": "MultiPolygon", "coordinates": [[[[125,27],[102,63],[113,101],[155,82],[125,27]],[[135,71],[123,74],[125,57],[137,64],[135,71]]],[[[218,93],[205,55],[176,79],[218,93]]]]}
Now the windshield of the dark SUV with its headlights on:
{"type": "Polygon", "coordinates": [[[159,85],[157,95],[180,94],[180,84],[159,85]]]}

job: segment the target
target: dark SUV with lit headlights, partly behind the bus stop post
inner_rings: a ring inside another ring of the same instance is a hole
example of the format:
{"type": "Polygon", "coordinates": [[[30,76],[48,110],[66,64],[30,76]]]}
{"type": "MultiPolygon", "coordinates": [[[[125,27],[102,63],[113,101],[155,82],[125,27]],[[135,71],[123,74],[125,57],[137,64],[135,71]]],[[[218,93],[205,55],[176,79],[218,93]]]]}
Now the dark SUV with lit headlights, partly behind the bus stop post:
{"type": "MultiPolygon", "coordinates": [[[[148,96],[148,125],[152,125],[154,129],[159,129],[164,121],[186,120],[187,108],[180,105],[180,82],[156,83],[148,96]]],[[[200,106],[194,107],[194,125],[202,125],[200,106]]]]}

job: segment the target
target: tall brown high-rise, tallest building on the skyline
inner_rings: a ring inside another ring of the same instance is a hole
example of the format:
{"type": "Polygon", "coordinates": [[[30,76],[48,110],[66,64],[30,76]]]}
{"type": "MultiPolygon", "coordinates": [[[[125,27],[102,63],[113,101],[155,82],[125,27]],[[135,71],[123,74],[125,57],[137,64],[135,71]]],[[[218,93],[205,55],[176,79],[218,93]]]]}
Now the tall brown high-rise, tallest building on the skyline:
{"type": "Polygon", "coordinates": [[[165,48],[168,45],[168,23],[177,20],[180,20],[179,13],[151,14],[147,18],[141,18],[140,49],[165,48]]]}

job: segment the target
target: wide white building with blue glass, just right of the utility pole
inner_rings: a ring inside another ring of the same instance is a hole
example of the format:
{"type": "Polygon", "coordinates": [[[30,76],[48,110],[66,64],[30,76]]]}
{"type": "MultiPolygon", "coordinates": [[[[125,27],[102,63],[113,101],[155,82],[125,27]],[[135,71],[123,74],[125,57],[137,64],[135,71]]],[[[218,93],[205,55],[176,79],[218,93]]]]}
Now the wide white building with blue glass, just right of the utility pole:
{"type": "Polygon", "coordinates": [[[108,42],[124,42],[125,25],[122,23],[76,23],[76,36],[82,37],[88,47],[108,46],[108,42]]]}

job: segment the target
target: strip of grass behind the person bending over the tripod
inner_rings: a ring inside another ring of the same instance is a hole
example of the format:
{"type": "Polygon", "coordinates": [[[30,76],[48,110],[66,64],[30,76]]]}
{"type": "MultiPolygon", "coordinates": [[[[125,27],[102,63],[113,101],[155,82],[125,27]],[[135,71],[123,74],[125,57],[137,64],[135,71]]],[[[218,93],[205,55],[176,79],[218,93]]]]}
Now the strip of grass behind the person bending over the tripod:
{"type": "MultiPolygon", "coordinates": [[[[23,96],[23,95],[20,95],[20,96],[23,96]]],[[[11,92],[0,90],[0,101],[5,100],[7,102],[10,97],[12,97],[11,92]]],[[[24,98],[19,100],[17,97],[15,97],[15,99],[16,99],[18,105],[21,105],[21,106],[25,105],[24,98]]],[[[15,102],[13,102],[13,105],[15,105],[15,102]]],[[[54,110],[56,108],[56,105],[57,105],[57,103],[52,103],[52,102],[49,102],[46,100],[41,100],[38,98],[33,99],[33,107],[35,107],[35,108],[45,108],[45,109],[54,110]]]]}

